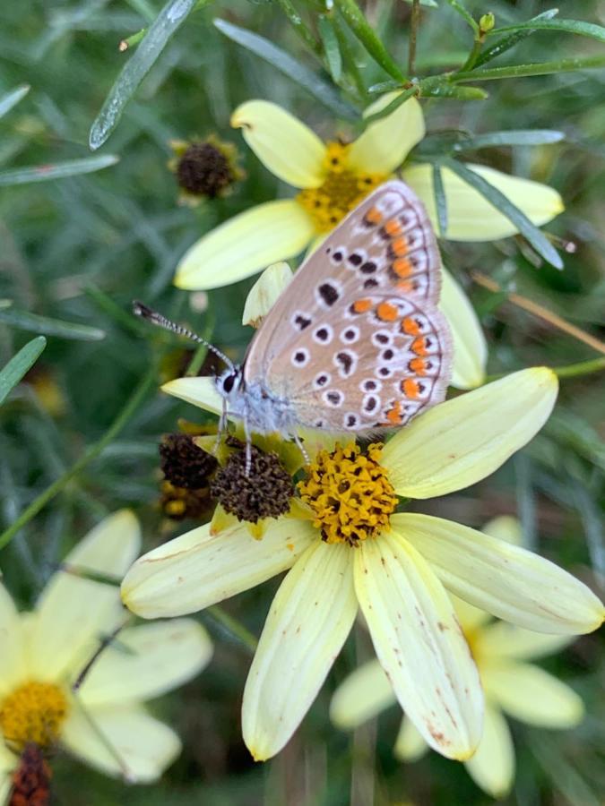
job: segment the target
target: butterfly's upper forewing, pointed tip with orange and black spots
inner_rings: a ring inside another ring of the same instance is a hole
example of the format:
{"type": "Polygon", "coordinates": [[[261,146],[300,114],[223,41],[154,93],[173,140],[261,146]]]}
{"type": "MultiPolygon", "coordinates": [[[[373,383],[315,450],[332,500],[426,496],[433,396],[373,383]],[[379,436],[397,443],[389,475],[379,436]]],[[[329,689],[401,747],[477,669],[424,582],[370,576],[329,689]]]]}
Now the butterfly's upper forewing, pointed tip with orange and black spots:
{"type": "Polygon", "coordinates": [[[246,381],[263,378],[278,394],[290,387],[279,374],[282,353],[298,344],[313,351],[317,328],[340,315],[351,296],[390,293],[436,305],[440,266],[422,202],[403,182],[381,185],[342,219],[273,305],[246,355],[246,381]]]}

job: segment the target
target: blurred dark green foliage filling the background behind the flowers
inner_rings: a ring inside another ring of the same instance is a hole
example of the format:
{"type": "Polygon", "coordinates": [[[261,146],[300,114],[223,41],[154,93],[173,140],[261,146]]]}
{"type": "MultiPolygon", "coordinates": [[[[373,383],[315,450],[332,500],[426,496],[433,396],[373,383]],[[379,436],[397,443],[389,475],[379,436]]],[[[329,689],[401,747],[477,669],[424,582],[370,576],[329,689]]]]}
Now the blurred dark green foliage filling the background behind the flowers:
{"type": "MultiPolygon", "coordinates": [[[[177,260],[203,232],[240,210],[288,193],[246,150],[240,134],[229,129],[230,111],[246,99],[271,99],[324,138],[355,132],[355,124],[335,120],[330,109],[296,81],[230,42],[212,24],[220,17],[261,33],[307,68],[320,70],[282,13],[283,5],[238,0],[208,4],[192,13],[153,64],[100,150],[119,157],[113,167],[0,188],[0,298],[13,300],[12,313],[0,307],[0,365],[31,338],[32,323],[20,312],[103,331],[98,339],[98,332],[64,325],[54,335],[48,322],[39,324],[38,332],[48,336],[48,346],[37,370],[58,385],[65,410],[48,413],[36,391],[35,375],[28,376],[30,382],[16,388],[4,403],[0,411],[4,527],[99,440],[137,384],[147,380],[141,405],[117,438],[0,553],[4,583],[23,607],[35,601],[65,551],[110,511],[132,507],[143,520],[148,548],[168,536],[157,505],[157,445],[161,433],[174,430],[177,416],[194,419],[198,413],[156,391],[168,358],[174,358],[182,345],[134,321],[130,303],[141,298],[196,330],[210,329],[214,343],[232,356],[243,355],[250,331],[240,325],[240,316],[252,279],[210,292],[209,313],[203,315],[191,309],[186,292],[171,286],[177,260]],[[166,166],[168,142],[212,132],[238,144],[246,180],[227,199],[196,210],[178,207],[177,187],[166,166]]],[[[0,121],[0,171],[90,156],[91,123],[130,56],[130,51],[120,54],[117,43],[147,25],[160,7],[159,0],[3,4],[0,96],[23,83],[31,89],[0,121]]],[[[297,7],[307,21],[316,18],[317,4],[300,2],[297,7]]],[[[532,0],[484,5],[469,0],[467,7],[475,19],[489,11],[495,13],[498,25],[504,25],[527,20],[550,5],[532,0]]],[[[584,21],[605,23],[605,7],[598,0],[582,4],[562,0],[558,7],[560,18],[581,13],[584,21]]],[[[410,5],[376,0],[365,10],[405,69],[410,5]]],[[[366,86],[389,79],[355,39],[347,39],[366,86]]],[[[471,29],[444,0],[436,8],[423,8],[419,75],[460,66],[471,46],[471,29]]],[[[543,30],[488,66],[604,54],[603,42],[543,30]]],[[[324,77],[329,81],[326,73],[324,77]]],[[[505,295],[473,284],[471,271],[480,270],[500,285],[514,287],[598,337],[605,310],[605,70],[555,72],[480,86],[488,90],[487,99],[423,101],[429,133],[532,128],[565,132],[566,140],[557,144],[484,149],[469,156],[554,185],[567,210],[549,231],[577,243],[577,251],[565,255],[564,271],[536,261],[518,239],[443,244],[446,264],[480,313],[490,347],[489,372],[594,359],[599,354],[592,347],[506,303],[505,295]]],[[[605,389],[598,373],[563,378],[561,387],[555,415],[526,450],[482,484],[423,505],[422,510],[471,526],[480,526],[493,515],[518,513],[530,547],[597,589],[605,570],[600,515],[605,451],[598,435],[605,389]]],[[[178,524],[172,534],[190,526],[178,524]]],[[[273,580],[229,601],[225,609],[258,634],[276,586],[273,580]]],[[[289,747],[271,762],[255,765],[241,742],[238,724],[249,650],[210,616],[199,618],[216,640],[212,665],[153,706],[184,740],[177,763],[159,785],[126,789],[59,754],[53,760],[57,803],[489,802],[461,766],[436,754],[413,766],[397,764],[392,746],[399,714],[394,708],[377,725],[368,725],[353,737],[331,727],[326,714],[330,691],[359,659],[370,655],[364,635],[350,639],[289,747]]],[[[514,725],[518,775],[507,802],[597,806],[605,791],[598,639],[580,639],[545,665],[583,695],[588,716],[577,730],[567,733],[514,725]]]]}

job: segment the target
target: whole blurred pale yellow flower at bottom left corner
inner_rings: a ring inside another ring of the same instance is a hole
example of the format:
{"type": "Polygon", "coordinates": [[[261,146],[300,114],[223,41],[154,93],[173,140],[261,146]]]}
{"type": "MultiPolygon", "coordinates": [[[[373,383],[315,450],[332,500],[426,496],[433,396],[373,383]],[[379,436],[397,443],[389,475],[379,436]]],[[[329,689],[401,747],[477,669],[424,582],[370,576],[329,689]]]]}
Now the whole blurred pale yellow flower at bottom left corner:
{"type": "MultiPolygon", "coordinates": [[[[65,558],[74,570],[119,579],[140,550],[140,527],[121,510],[65,558]]],[[[27,742],[60,744],[110,776],[152,781],[180,742],[143,701],[199,673],[212,656],[205,630],[190,619],[127,628],[72,685],[99,640],[125,619],[116,586],[58,571],[36,609],[18,613],[0,586],[0,802],[27,742]],[[10,748],[10,749],[9,749],[10,748]],[[13,751],[12,751],[13,750],[13,751]]]]}

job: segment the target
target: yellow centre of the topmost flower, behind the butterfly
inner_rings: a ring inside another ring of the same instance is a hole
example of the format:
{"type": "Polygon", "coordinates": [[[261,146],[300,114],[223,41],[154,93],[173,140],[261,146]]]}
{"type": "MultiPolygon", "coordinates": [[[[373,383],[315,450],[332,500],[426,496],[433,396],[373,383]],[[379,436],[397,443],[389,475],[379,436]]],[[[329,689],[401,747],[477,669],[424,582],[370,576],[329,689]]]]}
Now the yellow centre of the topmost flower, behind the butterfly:
{"type": "Polygon", "coordinates": [[[310,213],[318,232],[328,232],[359,201],[387,178],[384,174],[360,174],[347,165],[350,145],[326,143],[325,179],[320,187],[298,193],[297,201],[310,213]]]}

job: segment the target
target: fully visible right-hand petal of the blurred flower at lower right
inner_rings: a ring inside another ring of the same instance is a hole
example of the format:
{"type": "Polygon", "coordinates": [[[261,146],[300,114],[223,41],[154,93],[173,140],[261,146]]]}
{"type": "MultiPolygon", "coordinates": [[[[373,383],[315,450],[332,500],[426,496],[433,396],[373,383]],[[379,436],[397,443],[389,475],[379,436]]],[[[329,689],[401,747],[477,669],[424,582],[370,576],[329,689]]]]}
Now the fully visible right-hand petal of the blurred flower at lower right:
{"type": "Polygon", "coordinates": [[[582,699],[566,683],[532,664],[494,663],[481,668],[488,697],[529,725],[572,728],[584,716],[582,699]]]}

